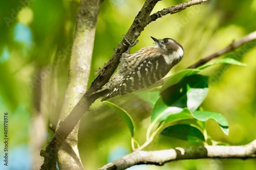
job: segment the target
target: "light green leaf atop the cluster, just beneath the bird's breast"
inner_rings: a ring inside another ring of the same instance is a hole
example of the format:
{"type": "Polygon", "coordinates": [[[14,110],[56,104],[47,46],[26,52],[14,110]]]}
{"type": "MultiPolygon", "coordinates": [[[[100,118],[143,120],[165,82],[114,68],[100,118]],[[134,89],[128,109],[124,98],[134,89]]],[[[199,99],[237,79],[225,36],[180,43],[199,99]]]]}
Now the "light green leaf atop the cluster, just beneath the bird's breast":
{"type": "Polygon", "coordinates": [[[199,69],[184,69],[181,71],[176,72],[172,76],[170,76],[163,84],[160,92],[162,93],[168,87],[179,83],[184,77],[195,75],[199,72],[199,69]]]}

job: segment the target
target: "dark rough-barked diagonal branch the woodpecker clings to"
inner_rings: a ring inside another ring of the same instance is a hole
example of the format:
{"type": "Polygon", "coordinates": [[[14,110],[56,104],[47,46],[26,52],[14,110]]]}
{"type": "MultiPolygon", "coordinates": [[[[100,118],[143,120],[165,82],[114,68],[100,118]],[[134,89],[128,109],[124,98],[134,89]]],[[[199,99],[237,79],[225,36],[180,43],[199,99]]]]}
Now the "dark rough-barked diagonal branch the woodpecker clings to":
{"type": "MultiPolygon", "coordinates": [[[[100,1],[100,0],[97,0],[100,1]]],[[[158,14],[153,14],[150,16],[153,8],[156,3],[160,0],[147,0],[142,9],[139,11],[138,15],[135,17],[132,26],[127,31],[125,38],[133,43],[140,35],[140,33],[144,30],[144,28],[152,21],[155,21],[157,18],[166,15],[177,13],[178,11],[184,10],[187,7],[192,5],[201,4],[208,0],[193,0],[189,2],[185,2],[173,7],[169,7],[168,10],[164,11],[161,16],[158,14]],[[154,17],[153,17],[154,16],[154,17]]],[[[81,1],[82,3],[82,1],[81,1]]],[[[86,15],[92,11],[80,11],[82,15],[86,15]]],[[[161,11],[159,11],[161,13],[161,11]]],[[[77,20],[78,22],[78,20],[77,20]]],[[[78,26],[78,24],[77,24],[78,26]]],[[[45,157],[44,164],[41,166],[41,169],[50,169],[49,167],[54,167],[55,162],[57,160],[57,153],[61,147],[61,145],[65,142],[65,139],[75,128],[77,123],[79,122],[81,116],[89,110],[91,104],[94,102],[89,99],[90,94],[100,89],[112,76],[113,72],[117,68],[119,64],[119,59],[122,53],[124,53],[128,46],[124,45],[125,40],[118,45],[117,50],[112,55],[111,59],[104,67],[101,69],[99,76],[94,80],[91,87],[87,90],[86,93],[83,94],[82,98],[67,116],[67,118],[59,123],[59,128],[56,130],[50,141],[47,143],[46,151],[41,151],[40,155],[45,157]]]]}

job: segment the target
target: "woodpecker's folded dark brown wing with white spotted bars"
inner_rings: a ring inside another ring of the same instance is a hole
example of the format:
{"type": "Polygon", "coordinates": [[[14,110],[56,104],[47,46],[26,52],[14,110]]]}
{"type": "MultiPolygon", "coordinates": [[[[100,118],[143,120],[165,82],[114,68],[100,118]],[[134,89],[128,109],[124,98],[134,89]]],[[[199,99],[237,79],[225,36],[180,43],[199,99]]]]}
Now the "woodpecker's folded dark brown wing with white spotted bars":
{"type": "Polygon", "coordinates": [[[108,93],[101,101],[116,95],[131,93],[135,90],[150,86],[162,79],[170,70],[163,56],[148,58],[138,64],[123,81],[108,93]]]}

